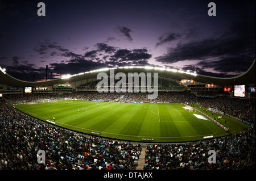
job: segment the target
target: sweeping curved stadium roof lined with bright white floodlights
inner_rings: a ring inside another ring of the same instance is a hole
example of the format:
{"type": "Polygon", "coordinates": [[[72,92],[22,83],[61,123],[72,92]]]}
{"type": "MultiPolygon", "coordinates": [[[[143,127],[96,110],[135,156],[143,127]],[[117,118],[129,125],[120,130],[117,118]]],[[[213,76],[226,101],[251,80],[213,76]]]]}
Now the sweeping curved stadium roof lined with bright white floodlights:
{"type": "MultiPolygon", "coordinates": [[[[161,69],[145,69],[145,68],[138,68],[138,67],[132,67],[132,68],[117,68],[114,69],[115,73],[123,72],[123,73],[129,73],[129,72],[137,72],[137,73],[158,73],[158,75],[163,75],[166,77],[176,77],[181,79],[192,79],[196,82],[203,82],[203,83],[213,83],[214,85],[218,86],[233,86],[233,85],[246,85],[246,86],[255,86],[255,58],[253,61],[253,64],[250,66],[250,68],[243,74],[238,75],[236,77],[230,77],[230,78],[218,78],[218,77],[210,77],[206,75],[191,75],[187,73],[180,73],[175,71],[168,71],[167,69],[161,70],[161,69]]],[[[109,74],[110,70],[105,69],[101,72],[105,72],[109,74]]],[[[0,71],[0,83],[6,84],[8,86],[18,86],[18,87],[24,87],[24,86],[31,86],[31,87],[40,87],[40,86],[52,86],[60,83],[65,82],[75,82],[75,81],[81,81],[83,79],[93,78],[97,77],[97,74],[99,71],[91,71],[83,74],[77,74],[76,76],[72,76],[69,78],[58,78],[53,79],[51,81],[41,81],[41,82],[27,82],[22,81],[19,79],[16,79],[12,77],[11,75],[7,73],[3,73],[3,71],[0,71]]]]}

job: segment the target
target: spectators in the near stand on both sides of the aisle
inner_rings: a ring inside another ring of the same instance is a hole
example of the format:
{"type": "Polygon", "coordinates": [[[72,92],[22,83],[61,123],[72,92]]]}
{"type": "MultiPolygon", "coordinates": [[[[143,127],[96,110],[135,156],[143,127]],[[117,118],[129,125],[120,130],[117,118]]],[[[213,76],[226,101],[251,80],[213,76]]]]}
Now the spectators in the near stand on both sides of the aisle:
{"type": "MultiPolygon", "coordinates": [[[[135,169],[141,145],[97,137],[85,137],[44,123],[0,101],[1,169],[109,170],[135,169]],[[46,151],[46,163],[38,163],[38,150],[46,151]]],[[[182,144],[148,145],[146,170],[254,169],[255,129],[240,134],[182,144]],[[208,151],[216,151],[216,164],[208,163],[208,151]]]]}

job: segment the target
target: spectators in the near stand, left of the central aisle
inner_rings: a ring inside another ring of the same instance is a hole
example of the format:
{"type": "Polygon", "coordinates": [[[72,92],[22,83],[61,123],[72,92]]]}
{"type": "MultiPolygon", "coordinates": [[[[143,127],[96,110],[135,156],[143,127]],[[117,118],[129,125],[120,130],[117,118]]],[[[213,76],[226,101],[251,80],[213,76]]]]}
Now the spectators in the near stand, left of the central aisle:
{"type": "Polygon", "coordinates": [[[44,123],[0,100],[0,168],[7,170],[134,170],[141,145],[86,137],[44,123]],[[39,150],[46,162],[38,162],[39,150]]]}

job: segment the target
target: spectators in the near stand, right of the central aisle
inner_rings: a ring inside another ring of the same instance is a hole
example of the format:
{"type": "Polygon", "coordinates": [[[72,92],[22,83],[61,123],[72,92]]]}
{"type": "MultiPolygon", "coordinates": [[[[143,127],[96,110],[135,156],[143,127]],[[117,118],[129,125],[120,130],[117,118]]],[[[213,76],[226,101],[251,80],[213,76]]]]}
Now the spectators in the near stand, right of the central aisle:
{"type": "Polygon", "coordinates": [[[240,134],[174,145],[148,145],[144,170],[253,170],[255,129],[240,134]],[[209,163],[209,150],[216,163],[209,163]]]}

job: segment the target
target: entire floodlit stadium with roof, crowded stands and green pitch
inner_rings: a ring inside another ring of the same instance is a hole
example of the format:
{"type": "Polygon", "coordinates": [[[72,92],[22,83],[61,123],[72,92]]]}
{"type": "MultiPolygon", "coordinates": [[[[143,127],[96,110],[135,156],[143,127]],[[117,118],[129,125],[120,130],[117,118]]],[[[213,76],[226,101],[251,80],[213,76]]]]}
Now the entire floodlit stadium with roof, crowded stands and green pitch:
{"type": "Polygon", "coordinates": [[[254,169],[255,59],[232,78],[114,68],[126,77],[158,73],[156,99],[142,92],[142,82],[138,92],[134,84],[98,92],[97,74],[110,79],[112,69],[26,82],[1,68],[2,169],[254,169]],[[216,164],[207,162],[209,150],[216,164]]]}

